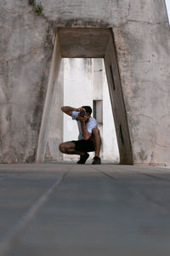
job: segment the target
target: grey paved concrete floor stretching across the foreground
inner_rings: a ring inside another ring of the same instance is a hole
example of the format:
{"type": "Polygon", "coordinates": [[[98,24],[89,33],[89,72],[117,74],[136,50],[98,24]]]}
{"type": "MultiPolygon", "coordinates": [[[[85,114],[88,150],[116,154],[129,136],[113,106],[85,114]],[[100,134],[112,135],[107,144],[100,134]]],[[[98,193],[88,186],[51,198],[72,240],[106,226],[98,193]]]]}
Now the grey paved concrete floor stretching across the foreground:
{"type": "Polygon", "coordinates": [[[170,169],[0,165],[0,256],[170,255],[170,169]]]}

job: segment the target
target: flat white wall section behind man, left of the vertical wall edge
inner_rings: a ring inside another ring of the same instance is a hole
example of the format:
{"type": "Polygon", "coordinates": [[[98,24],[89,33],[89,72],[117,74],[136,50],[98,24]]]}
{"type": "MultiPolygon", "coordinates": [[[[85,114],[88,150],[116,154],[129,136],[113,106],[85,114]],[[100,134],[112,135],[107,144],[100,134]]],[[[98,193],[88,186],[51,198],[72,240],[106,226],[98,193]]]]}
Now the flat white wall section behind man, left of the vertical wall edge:
{"type": "MultiPolygon", "coordinates": [[[[64,59],[64,105],[79,108],[92,106],[93,72],[91,59],[64,59]]],[[[77,140],[77,121],[64,114],[64,142],[77,140]]],[[[77,160],[77,155],[64,154],[64,160],[77,160]]]]}

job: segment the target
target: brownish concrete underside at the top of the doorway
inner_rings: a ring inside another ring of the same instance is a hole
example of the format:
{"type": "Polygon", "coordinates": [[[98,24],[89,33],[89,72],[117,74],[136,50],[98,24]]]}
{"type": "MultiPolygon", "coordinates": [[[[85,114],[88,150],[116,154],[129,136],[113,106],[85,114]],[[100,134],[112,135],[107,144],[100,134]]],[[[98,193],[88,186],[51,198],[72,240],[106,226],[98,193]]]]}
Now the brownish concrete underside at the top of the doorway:
{"type": "Polygon", "coordinates": [[[62,57],[104,58],[110,28],[59,28],[62,57]]]}

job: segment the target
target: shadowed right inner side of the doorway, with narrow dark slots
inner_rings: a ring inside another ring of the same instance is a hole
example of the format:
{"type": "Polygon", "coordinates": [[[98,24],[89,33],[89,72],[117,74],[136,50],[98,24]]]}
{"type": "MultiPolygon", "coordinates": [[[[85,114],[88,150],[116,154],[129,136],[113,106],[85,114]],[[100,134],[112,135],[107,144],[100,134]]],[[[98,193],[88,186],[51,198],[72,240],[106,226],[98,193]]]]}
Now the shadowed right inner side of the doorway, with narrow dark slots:
{"type": "Polygon", "coordinates": [[[108,47],[105,51],[105,71],[111,95],[112,112],[116,125],[116,137],[119,145],[120,163],[130,165],[133,163],[133,152],[113,37],[110,38],[108,47]]]}

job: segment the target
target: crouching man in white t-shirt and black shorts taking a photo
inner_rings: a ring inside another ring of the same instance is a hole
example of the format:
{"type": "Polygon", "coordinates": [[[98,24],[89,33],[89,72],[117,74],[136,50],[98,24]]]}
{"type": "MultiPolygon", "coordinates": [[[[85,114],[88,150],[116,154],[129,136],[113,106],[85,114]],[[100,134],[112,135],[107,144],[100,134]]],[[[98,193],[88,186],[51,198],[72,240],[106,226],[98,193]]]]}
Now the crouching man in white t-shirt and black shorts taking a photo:
{"type": "Polygon", "coordinates": [[[95,151],[92,165],[100,165],[101,137],[97,121],[91,117],[92,108],[89,106],[82,106],[81,108],[64,106],[61,110],[70,115],[72,119],[77,120],[79,137],[77,141],[61,143],[59,145],[60,152],[64,154],[79,154],[80,159],[77,161],[77,164],[85,164],[89,157],[88,152],[95,151]]]}

